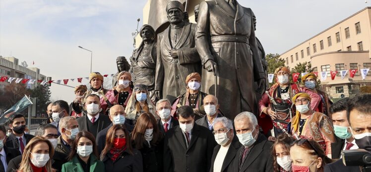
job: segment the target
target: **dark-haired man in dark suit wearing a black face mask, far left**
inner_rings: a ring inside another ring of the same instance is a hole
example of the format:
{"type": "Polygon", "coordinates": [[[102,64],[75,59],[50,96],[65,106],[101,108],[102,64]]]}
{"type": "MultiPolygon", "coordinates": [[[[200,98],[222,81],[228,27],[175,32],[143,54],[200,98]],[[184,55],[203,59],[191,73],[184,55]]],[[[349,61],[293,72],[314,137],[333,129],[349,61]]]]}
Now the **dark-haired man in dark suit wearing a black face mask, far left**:
{"type": "Polygon", "coordinates": [[[5,146],[8,148],[18,149],[22,154],[26,144],[34,136],[24,133],[24,129],[26,128],[26,119],[22,114],[14,114],[9,118],[9,123],[9,127],[12,132],[6,138],[5,146]]]}

